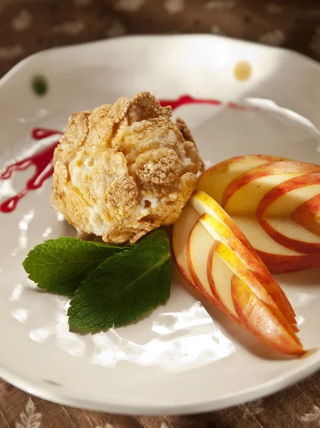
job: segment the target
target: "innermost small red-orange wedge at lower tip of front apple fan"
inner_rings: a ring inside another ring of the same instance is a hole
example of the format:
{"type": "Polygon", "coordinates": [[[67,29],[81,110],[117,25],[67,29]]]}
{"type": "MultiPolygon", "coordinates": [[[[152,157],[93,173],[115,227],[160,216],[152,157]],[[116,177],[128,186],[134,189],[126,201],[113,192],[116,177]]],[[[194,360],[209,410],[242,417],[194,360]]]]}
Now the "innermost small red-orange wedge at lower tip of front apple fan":
{"type": "Polygon", "coordinates": [[[232,276],[231,286],[234,307],[247,330],[282,354],[299,356],[306,353],[299,340],[289,335],[277,317],[237,275],[232,276]]]}

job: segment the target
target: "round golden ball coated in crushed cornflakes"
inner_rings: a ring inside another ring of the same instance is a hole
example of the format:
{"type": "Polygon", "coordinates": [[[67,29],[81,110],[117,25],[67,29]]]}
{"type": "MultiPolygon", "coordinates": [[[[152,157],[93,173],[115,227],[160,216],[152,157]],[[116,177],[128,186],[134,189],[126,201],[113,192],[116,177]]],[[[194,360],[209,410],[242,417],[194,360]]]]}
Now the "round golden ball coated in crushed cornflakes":
{"type": "Polygon", "coordinates": [[[53,156],[51,204],[79,235],[135,243],[179,218],[203,163],[171,116],[148,92],[71,115],[53,156]]]}

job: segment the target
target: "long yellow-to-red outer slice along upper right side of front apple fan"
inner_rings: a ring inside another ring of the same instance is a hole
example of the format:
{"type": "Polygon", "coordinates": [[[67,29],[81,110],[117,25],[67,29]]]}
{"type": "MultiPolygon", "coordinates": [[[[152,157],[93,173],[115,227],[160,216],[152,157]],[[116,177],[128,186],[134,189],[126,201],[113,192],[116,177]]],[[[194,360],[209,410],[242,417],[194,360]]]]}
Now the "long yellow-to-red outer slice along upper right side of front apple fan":
{"type": "MultiPolygon", "coordinates": [[[[234,220],[220,207],[220,205],[205,192],[197,192],[190,198],[190,204],[197,210],[202,216],[200,222],[207,228],[207,231],[212,235],[215,240],[220,240],[225,243],[237,256],[242,260],[242,263],[257,277],[257,280],[263,285],[265,290],[274,300],[279,310],[284,314],[290,325],[295,325],[295,313],[287,296],[285,295],[282,288],[274,280],[267,267],[262,263],[262,260],[257,255],[256,251],[249,243],[247,238],[242,233],[241,228],[238,228],[234,223],[234,220]]],[[[242,219],[242,218],[241,218],[242,219]]],[[[247,218],[244,218],[247,219],[247,218]]],[[[252,218],[254,220],[254,218],[252,218]]],[[[251,220],[251,218],[249,218],[251,220]]],[[[272,239],[264,232],[259,226],[264,237],[267,238],[267,245],[262,247],[262,250],[268,249],[268,244],[273,243],[272,239]]],[[[251,229],[249,228],[249,231],[251,229]]],[[[255,236],[254,236],[255,238],[255,236]]],[[[259,243],[259,240],[257,240],[259,243]]],[[[274,244],[277,246],[277,243],[274,244]]],[[[279,245],[279,248],[282,248],[279,245]]],[[[289,255],[296,255],[295,252],[290,252],[287,248],[284,248],[289,255]]],[[[294,327],[294,330],[297,330],[294,327]]]]}

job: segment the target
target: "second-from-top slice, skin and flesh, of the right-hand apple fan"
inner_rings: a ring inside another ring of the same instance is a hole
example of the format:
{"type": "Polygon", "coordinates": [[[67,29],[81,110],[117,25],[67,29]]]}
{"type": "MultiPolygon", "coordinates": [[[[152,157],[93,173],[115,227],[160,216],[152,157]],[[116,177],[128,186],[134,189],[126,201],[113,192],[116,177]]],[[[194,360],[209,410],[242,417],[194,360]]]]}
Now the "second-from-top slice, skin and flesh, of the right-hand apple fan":
{"type": "MultiPolygon", "coordinates": [[[[240,175],[228,185],[224,190],[222,207],[231,216],[255,215],[264,195],[277,185],[296,176],[319,171],[319,165],[296,161],[260,165],[240,175]]],[[[215,198],[213,190],[209,195],[215,198]]]]}

